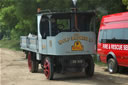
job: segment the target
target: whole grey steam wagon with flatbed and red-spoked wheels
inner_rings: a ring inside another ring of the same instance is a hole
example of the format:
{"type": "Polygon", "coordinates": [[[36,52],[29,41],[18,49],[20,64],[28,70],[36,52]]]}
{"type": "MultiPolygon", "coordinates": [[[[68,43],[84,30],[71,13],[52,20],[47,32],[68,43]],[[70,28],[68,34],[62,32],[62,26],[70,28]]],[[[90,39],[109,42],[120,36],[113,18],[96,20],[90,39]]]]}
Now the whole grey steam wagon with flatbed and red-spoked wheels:
{"type": "Polygon", "coordinates": [[[37,35],[21,36],[21,49],[28,57],[30,72],[38,66],[47,79],[54,73],[83,72],[94,74],[96,54],[95,12],[40,11],[37,14],[37,35]]]}

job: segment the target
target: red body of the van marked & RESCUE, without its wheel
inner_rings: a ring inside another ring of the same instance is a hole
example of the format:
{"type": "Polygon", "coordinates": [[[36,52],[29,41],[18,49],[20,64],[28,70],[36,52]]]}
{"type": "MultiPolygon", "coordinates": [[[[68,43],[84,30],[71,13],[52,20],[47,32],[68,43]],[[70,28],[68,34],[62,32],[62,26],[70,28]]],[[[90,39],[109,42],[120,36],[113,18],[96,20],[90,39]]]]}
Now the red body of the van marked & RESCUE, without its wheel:
{"type": "MultiPolygon", "coordinates": [[[[112,52],[115,55],[119,66],[128,67],[128,42],[126,42],[128,40],[125,40],[125,43],[117,43],[116,41],[115,43],[100,42],[99,37],[105,36],[105,31],[103,32],[103,34],[100,34],[101,30],[116,31],[118,29],[127,30],[128,32],[128,12],[103,16],[100,24],[99,34],[98,34],[97,53],[100,56],[100,60],[104,63],[107,63],[107,56],[110,52],[112,52]]],[[[123,30],[122,32],[125,32],[123,30]]],[[[106,33],[107,32],[108,31],[106,31],[106,33]]],[[[106,36],[110,37],[111,35],[106,34],[106,36]]],[[[120,36],[126,36],[125,39],[128,39],[127,37],[128,33],[125,33],[125,35],[119,35],[119,37],[120,36]]]]}

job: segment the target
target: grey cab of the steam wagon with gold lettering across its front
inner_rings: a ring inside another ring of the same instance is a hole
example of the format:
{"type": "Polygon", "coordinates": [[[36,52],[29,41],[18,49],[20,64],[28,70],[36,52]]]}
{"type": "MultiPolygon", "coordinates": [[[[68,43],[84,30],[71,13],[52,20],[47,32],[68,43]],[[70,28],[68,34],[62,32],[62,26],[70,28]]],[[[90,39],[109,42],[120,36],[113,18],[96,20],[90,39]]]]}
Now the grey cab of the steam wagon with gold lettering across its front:
{"type": "Polygon", "coordinates": [[[40,12],[37,19],[40,53],[95,54],[94,11],[40,12]]]}

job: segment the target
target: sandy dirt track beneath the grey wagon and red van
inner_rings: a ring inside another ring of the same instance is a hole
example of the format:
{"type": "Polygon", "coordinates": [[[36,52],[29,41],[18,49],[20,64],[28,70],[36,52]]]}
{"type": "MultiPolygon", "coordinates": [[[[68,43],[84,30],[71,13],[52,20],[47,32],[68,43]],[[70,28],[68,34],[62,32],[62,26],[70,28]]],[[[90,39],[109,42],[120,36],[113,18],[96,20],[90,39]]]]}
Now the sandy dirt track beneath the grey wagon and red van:
{"type": "Polygon", "coordinates": [[[95,75],[86,79],[82,74],[55,74],[49,81],[41,69],[30,73],[23,52],[0,48],[0,83],[1,85],[128,85],[128,72],[109,74],[106,67],[95,66],[95,75]]]}

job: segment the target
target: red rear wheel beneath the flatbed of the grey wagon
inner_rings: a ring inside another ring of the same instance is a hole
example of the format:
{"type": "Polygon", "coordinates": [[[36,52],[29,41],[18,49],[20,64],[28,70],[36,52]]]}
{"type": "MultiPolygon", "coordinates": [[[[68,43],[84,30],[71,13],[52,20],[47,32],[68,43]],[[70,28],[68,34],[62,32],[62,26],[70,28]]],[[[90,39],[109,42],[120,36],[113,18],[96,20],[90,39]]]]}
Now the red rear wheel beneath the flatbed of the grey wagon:
{"type": "Polygon", "coordinates": [[[30,72],[38,72],[38,61],[36,60],[36,56],[32,52],[28,52],[28,67],[30,72]]]}

